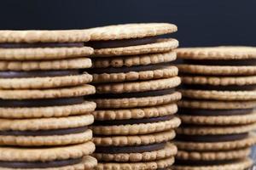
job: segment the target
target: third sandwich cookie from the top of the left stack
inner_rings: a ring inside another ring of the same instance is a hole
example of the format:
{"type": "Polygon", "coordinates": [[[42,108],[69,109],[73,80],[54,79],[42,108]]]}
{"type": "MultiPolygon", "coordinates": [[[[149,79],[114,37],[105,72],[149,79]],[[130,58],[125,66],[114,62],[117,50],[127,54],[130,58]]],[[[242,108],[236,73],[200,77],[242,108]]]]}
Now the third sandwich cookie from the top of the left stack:
{"type": "Polygon", "coordinates": [[[95,94],[91,85],[73,88],[0,90],[0,117],[32,118],[80,115],[94,111],[96,104],[84,95],[95,94]]]}

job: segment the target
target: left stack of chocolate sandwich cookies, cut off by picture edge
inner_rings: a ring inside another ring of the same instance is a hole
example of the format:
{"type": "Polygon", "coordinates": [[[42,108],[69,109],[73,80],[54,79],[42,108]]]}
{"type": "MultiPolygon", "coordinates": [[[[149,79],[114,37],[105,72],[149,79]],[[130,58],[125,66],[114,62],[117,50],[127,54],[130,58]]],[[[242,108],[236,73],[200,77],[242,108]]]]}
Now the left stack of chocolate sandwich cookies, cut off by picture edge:
{"type": "Polygon", "coordinates": [[[91,169],[85,31],[0,31],[0,169],[91,169]]]}

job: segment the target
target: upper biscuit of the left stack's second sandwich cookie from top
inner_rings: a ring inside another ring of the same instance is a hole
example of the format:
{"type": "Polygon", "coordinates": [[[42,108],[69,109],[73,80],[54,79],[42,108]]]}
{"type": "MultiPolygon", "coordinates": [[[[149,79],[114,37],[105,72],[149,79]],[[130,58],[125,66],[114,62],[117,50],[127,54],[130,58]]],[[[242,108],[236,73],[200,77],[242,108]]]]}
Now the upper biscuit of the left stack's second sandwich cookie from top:
{"type": "Polygon", "coordinates": [[[85,69],[91,67],[88,58],[78,59],[55,59],[40,61],[0,61],[1,71],[47,71],[47,70],[69,70],[85,69]]]}

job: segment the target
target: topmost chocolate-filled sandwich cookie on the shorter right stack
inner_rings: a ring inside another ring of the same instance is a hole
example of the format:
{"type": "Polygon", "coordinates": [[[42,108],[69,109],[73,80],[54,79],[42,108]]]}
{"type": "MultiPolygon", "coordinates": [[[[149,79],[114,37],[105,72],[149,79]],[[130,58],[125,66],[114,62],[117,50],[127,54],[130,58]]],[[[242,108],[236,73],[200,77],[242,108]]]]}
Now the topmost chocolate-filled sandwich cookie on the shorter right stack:
{"type": "Polygon", "coordinates": [[[249,76],[256,74],[256,49],[253,47],[179,48],[183,59],[178,68],[196,75],[249,76]]]}

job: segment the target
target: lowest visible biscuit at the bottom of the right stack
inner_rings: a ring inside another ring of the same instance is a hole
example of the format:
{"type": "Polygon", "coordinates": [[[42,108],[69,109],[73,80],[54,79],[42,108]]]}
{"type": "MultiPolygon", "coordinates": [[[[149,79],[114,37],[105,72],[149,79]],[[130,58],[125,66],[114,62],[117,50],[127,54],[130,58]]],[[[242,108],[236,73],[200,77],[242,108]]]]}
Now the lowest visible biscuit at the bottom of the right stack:
{"type": "Polygon", "coordinates": [[[253,161],[249,158],[237,161],[226,162],[223,164],[215,165],[179,165],[172,166],[173,170],[242,170],[247,169],[253,165],[253,161]]]}

